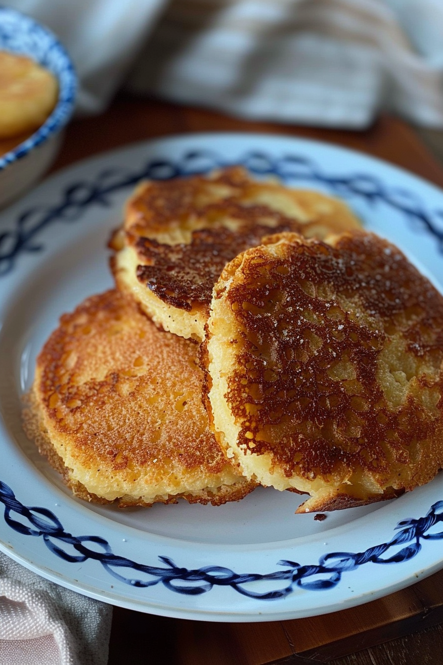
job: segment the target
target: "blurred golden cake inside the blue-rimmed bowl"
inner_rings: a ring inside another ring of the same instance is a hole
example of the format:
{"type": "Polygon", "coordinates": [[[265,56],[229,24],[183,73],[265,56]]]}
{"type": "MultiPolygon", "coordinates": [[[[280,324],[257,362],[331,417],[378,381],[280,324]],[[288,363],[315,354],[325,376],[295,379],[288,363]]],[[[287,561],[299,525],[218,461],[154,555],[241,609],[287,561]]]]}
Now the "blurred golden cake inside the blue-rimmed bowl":
{"type": "Polygon", "coordinates": [[[58,83],[49,70],[25,55],[0,51],[0,140],[7,146],[11,138],[19,137],[18,144],[21,135],[41,126],[57,96],[58,83]]]}

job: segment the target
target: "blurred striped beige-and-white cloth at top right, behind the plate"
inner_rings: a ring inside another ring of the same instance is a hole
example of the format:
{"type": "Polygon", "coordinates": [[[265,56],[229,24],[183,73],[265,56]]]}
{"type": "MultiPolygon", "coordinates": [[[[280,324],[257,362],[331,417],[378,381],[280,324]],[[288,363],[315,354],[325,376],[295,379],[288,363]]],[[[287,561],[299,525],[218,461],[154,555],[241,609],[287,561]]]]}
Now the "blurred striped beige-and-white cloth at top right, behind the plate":
{"type": "Polygon", "coordinates": [[[442,0],[171,0],[132,90],[256,120],[443,127],[442,0]]]}

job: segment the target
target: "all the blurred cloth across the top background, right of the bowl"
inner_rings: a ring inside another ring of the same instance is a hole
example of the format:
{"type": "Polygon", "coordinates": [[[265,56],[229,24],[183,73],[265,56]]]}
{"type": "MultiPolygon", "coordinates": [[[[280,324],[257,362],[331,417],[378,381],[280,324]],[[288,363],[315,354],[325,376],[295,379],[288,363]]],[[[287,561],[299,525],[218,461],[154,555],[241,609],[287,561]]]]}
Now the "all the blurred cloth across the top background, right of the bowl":
{"type": "Polygon", "coordinates": [[[365,128],[388,109],[443,127],[442,0],[9,5],[60,35],[84,112],[102,110],[127,84],[245,118],[365,128]]]}

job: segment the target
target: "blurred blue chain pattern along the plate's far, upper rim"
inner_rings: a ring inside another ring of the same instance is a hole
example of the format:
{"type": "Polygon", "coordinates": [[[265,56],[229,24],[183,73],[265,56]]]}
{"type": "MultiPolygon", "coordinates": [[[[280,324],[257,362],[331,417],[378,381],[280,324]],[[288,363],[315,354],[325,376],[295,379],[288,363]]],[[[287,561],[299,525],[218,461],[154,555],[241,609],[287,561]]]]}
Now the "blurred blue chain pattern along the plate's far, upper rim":
{"type": "MultiPolygon", "coordinates": [[[[262,152],[248,152],[235,164],[242,164],[256,176],[277,176],[291,184],[300,180],[311,182],[343,198],[355,197],[372,204],[383,201],[402,213],[406,220],[431,233],[438,243],[438,249],[443,251],[443,211],[429,213],[414,194],[400,188],[389,188],[376,176],[361,173],[333,176],[323,172],[314,160],[306,156],[272,158],[262,152]]],[[[44,249],[36,238],[48,225],[57,221],[77,221],[90,205],[110,207],[113,194],[132,188],[144,178],[167,180],[176,176],[207,173],[221,166],[228,166],[228,162],[219,154],[209,150],[193,150],[185,152],[175,162],[157,158],[149,160],[136,171],[107,168],[94,180],[66,186],[58,203],[26,210],[17,217],[13,229],[0,234],[0,277],[13,269],[21,253],[44,249]]]]}

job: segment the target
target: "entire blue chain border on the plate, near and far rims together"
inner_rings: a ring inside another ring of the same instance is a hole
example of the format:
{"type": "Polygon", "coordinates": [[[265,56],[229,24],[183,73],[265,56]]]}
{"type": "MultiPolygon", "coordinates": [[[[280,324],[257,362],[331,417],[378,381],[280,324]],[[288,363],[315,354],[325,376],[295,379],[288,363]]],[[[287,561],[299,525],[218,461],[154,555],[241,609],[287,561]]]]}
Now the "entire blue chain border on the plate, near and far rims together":
{"type": "MultiPolygon", "coordinates": [[[[388,188],[375,176],[353,174],[331,176],[325,174],[313,160],[304,156],[271,158],[260,152],[249,152],[236,164],[242,164],[258,176],[278,176],[284,182],[298,180],[313,182],[327,188],[337,196],[357,197],[369,203],[383,201],[393,209],[403,213],[406,219],[426,229],[443,249],[443,230],[439,227],[443,219],[442,211],[430,215],[421,201],[405,190],[388,188]]],[[[56,221],[71,223],[77,221],[90,205],[112,205],[112,194],[132,188],[139,180],[165,180],[176,176],[206,173],[213,168],[228,166],[214,152],[195,150],[186,152],[177,162],[155,159],[144,164],[140,170],[131,172],[118,168],[102,171],[90,182],[77,182],[67,186],[59,203],[51,207],[35,207],[21,213],[15,222],[15,229],[0,234],[0,276],[13,269],[15,259],[23,252],[44,249],[35,241],[45,227],[56,221]]],[[[186,595],[199,595],[211,591],[213,587],[231,587],[234,591],[254,599],[276,600],[292,593],[294,586],[307,591],[332,589],[341,580],[343,573],[355,570],[365,563],[401,563],[415,557],[420,551],[422,540],[443,539],[443,531],[429,533],[430,529],[443,521],[443,501],[434,503],[425,517],[400,521],[398,532],[389,542],[370,547],[364,552],[333,552],[319,558],[319,563],[300,565],[295,561],[279,561],[283,570],[274,573],[234,573],[221,566],[205,566],[200,569],[178,567],[169,557],[160,556],[164,567],[136,563],[112,552],[104,538],[99,536],[74,536],[64,531],[60,520],[52,511],[44,507],[26,507],[14,495],[8,485],[0,481],[0,502],[5,505],[5,521],[11,529],[23,535],[43,537],[48,549],[69,563],[80,563],[92,559],[98,561],[110,575],[134,587],[151,587],[162,583],[170,591],[186,595]],[[27,519],[31,526],[11,517],[17,513],[27,519]],[[89,546],[88,546],[89,545],[89,546]],[[91,546],[96,546],[96,549],[91,546]],[[389,550],[405,545],[391,556],[383,558],[389,550]],[[69,551],[71,549],[72,551],[69,551]],[[129,569],[131,577],[118,571],[129,569]],[[134,578],[141,573],[143,579],[134,578]],[[320,577],[321,579],[316,579],[320,577]],[[282,589],[260,593],[246,589],[245,585],[257,582],[288,581],[282,589]]]]}

